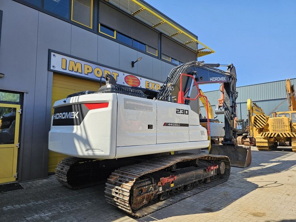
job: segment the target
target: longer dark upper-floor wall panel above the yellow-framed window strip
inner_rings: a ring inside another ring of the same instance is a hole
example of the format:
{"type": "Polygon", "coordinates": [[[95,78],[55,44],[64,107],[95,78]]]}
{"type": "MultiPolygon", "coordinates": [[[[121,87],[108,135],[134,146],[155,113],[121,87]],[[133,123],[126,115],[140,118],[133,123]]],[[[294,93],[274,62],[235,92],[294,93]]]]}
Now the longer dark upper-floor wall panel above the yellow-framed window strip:
{"type": "Polygon", "coordinates": [[[158,49],[158,33],[116,9],[100,2],[100,23],[158,49]]]}

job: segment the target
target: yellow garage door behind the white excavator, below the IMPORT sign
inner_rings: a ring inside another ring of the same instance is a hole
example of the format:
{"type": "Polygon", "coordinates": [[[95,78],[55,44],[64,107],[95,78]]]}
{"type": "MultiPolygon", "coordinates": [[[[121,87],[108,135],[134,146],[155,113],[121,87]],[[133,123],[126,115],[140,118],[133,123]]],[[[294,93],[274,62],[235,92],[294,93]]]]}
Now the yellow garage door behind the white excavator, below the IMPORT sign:
{"type": "MultiPolygon", "coordinates": [[[[102,85],[105,85],[102,83],[102,85]]],[[[80,91],[98,91],[100,83],[54,73],[52,83],[52,106],[55,101],[65,99],[68,95],[80,91]]],[[[52,115],[54,109],[52,108],[52,115]]],[[[48,172],[54,172],[59,161],[66,156],[49,151],[48,172]]]]}

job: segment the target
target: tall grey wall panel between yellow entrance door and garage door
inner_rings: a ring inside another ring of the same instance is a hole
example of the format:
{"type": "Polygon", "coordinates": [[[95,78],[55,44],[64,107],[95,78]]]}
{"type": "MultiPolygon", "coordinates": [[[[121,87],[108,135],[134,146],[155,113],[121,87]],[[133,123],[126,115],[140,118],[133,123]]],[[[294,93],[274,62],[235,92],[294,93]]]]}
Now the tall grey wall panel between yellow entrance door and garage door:
{"type": "MultiPolygon", "coordinates": [[[[72,44],[77,43],[73,42],[72,44]]],[[[52,96],[52,90],[48,88],[48,71],[46,66],[48,62],[48,49],[70,54],[71,25],[39,12],[30,179],[47,176],[47,165],[44,165],[43,161],[48,159],[47,134],[50,128],[45,128],[45,125],[40,123],[44,122],[46,118],[50,118],[50,113],[47,113],[49,116],[46,116],[46,105],[49,103],[47,99],[50,99],[51,103],[52,96]],[[43,171],[40,170],[42,165],[44,166],[43,171]]],[[[47,125],[47,127],[49,126],[47,125]]]]}

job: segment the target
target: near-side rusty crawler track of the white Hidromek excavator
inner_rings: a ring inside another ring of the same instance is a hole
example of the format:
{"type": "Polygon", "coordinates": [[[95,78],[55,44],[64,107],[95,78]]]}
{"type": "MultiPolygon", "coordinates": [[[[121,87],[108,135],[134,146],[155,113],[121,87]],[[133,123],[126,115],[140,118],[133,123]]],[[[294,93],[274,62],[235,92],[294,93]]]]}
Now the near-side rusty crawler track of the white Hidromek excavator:
{"type": "Polygon", "coordinates": [[[105,197],[111,205],[140,218],[217,186],[229,174],[226,156],[164,155],[115,170],[107,179],[105,197]]]}

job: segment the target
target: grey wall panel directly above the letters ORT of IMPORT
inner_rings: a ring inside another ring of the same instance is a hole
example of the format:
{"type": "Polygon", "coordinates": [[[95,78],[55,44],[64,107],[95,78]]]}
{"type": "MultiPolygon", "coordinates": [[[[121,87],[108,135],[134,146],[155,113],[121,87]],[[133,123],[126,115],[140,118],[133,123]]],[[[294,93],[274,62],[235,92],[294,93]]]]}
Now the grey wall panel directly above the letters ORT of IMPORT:
{"type": "Polygon", "coordinates": [[[98,63],[119,69],[119,43],[98,36],[98,63]]]}

